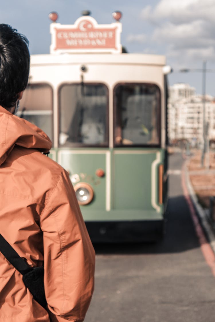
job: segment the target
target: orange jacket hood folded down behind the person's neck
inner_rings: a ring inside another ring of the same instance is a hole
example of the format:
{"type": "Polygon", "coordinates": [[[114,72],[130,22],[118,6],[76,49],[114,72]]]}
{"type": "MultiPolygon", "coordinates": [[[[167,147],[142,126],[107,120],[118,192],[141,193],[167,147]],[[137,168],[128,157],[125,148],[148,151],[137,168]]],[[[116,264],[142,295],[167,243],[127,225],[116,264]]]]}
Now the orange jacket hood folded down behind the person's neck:
{"type": "Polygon", "coordinates": [[[0,106],[0,165],[15,145],[47,153],[52,142],[40,128],[0,106]]]}

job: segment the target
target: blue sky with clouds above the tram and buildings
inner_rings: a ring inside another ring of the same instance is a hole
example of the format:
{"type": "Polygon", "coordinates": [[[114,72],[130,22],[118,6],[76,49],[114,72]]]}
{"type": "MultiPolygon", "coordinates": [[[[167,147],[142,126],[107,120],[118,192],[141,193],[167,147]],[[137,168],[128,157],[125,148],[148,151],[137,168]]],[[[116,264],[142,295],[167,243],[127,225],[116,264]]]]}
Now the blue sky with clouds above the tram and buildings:
{"type": "Polygon", "coordinates": [[[188,83],[197,94],[206,61],[206,93],[215,96],[215,0],[0,1],[0,23],[23,33],[31,54],[49,53],[52,11],[61,24],[74,24],[83,10],[90,10],[98,24],[110,24],[112,13],[121,11],[121,43],[128,52],[165,55],[173,69],[169,85],[188,83]],[[184,68],[189,72],[182,73],[184,68]]]}

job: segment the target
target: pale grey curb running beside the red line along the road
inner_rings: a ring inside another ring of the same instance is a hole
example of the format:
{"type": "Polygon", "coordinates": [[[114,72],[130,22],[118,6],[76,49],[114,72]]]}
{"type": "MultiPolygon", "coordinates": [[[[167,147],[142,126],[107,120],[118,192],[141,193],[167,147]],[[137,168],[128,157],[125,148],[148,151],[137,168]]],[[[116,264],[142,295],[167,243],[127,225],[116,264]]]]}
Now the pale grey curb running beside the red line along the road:
{"type": "Polygon", "coordinates": [[[212,228],[212,223],[209,219],[209,215],[206,213],[206,211],[199,204],[197,196],[195,194],[195,191],[191,185],[191,181],[189,178],[188,166],[187,166],[188,161],[189,161],[188,159],[185,161],[186,185],[187,185],[192,203],[194,204],[197,215],[200,219],[200,224],[201,224],[202,228],[204,229],[204,231],[206,232],[210,246],[211,246],[213,252],[215,253],[215,232],[214,232],[214,229],[212,228]]]}

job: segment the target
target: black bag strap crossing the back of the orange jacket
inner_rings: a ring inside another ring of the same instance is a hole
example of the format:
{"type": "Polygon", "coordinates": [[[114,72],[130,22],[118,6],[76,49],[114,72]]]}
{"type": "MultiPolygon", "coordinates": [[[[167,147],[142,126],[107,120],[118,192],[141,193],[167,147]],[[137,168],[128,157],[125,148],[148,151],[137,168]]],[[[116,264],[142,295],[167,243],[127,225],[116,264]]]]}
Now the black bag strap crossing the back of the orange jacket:
{"type": "Polygon", "coordinates": [[[30,267],[26,261],[19,256],[13,247],[0,234],[0,251],[5,258],[18,270],[22,275],[30,272],[33,268],[30,267]]]}

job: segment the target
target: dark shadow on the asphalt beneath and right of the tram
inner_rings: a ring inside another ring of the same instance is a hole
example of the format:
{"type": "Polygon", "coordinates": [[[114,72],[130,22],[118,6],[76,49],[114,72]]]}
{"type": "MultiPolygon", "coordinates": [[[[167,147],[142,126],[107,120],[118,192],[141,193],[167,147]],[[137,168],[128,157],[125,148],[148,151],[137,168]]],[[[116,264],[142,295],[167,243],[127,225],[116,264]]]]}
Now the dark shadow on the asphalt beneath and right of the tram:
{"type": "Polygon", "coordinates": [[[185,198],[169,198],[163,239],[154,243],[93,244],[96,254],[176,253],[199,247],[185,198]]]}

